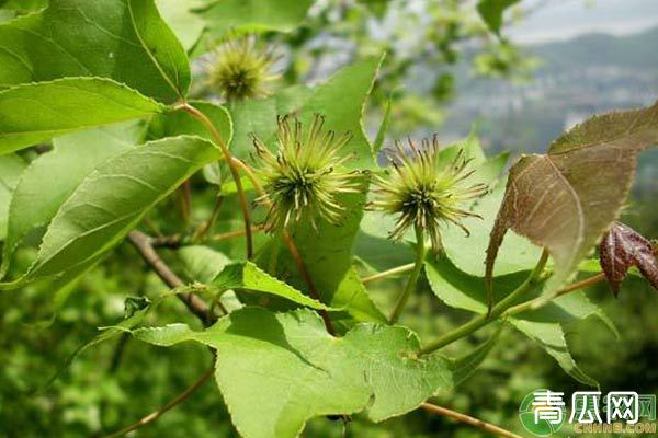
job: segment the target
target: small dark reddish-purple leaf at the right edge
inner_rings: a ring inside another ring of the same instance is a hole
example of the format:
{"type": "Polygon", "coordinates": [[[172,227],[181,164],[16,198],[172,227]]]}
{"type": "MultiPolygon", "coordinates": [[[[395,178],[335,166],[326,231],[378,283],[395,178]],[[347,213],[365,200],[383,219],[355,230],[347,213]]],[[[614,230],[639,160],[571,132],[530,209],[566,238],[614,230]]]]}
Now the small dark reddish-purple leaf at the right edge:
{"type": "Polygon", "coordinates": [[[601,268],[615,297],[631,266],[637,266],[651,286],[658,289],[658,260],[655,249],[649,240],[631,227],[613,223],[601,239],[600,252],[601,268]]]}

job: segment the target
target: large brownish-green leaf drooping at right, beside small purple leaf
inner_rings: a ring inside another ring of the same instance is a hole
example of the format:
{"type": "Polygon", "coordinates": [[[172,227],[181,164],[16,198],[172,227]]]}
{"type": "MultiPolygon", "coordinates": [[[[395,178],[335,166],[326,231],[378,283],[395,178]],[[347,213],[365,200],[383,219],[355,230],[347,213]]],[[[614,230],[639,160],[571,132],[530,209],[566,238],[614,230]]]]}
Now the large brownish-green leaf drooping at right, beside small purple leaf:
{"type": "Polygon", "coordinates": [[[545,155],[524,155],[510,170],[487,250],[494,274],[509,229],[546,247],[554,275],[551,298],[576,273],[617,218],[639,151],[658,143],[658,103],[593,117],[555,140],[545,155]]]}

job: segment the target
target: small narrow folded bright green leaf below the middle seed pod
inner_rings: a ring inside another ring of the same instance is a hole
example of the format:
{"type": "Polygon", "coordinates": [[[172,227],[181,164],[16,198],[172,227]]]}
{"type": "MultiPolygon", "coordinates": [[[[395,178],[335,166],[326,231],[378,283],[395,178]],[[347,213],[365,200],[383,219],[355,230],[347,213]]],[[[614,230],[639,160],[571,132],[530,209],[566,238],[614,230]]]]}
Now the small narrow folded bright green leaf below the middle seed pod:
{"type": "Polygon", "coordinates": [[[235,263],[226,266],[211,281],[211,286],[220,290],[246,289],[248,291],[274,295],[311,309],[330,310],[321,302],[305,296],[294,287],[272,277],[251,262],[235,263]]]}

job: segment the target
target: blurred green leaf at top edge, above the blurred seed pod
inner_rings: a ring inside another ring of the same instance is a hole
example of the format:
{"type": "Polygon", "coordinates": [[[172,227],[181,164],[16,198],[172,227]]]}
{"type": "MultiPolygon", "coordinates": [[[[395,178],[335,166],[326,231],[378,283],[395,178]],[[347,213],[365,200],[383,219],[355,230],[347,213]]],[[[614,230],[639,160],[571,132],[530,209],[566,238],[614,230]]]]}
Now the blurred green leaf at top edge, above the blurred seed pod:
{"type": "Polygon", "coordinates": [[[313,0],[207,0],[200,9],[214,37],[229,31],[294,30],[306,16],[313,0]]]}

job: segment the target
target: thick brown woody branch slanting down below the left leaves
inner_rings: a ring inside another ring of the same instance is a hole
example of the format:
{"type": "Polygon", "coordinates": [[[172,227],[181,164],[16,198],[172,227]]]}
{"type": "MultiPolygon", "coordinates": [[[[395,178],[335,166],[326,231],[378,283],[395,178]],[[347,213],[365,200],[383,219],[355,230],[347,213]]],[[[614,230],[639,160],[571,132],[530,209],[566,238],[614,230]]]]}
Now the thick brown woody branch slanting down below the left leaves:
{"type": "MultiPolygon", "coordinates": [[[[150,237],[141,231],[133,230],[128,234],[128,240],[135,246],[141,258],[150,266],[150,268],[160,277],[167,286],[172,289],[185,286],[183,280],[175,275],[169,266],[160,258],[150,242],[150,237]]],[[[188,307],[188,309],[203,322],[204,325],[211,325],[215,321],[215,316],[208,318],[208,306],[204,300],[192,292],[178,293],[177,297],[188,307]]]]}

